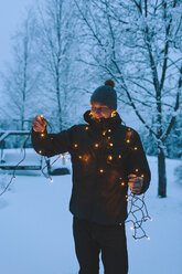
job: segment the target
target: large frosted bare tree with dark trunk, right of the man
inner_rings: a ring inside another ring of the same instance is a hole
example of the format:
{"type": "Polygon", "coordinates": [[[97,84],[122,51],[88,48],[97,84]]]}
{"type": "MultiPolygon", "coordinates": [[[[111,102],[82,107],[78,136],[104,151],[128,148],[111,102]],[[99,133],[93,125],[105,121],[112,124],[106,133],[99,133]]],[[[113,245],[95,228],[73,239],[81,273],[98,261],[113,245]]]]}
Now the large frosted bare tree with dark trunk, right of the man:
{"type": "Polygon", "coordinates": [[[116,81],[120,95],[125,92],[126,103],[154,137],[158,194],[167,197],[164,144],[178,115],[182,88],[182,2],[88,0],[84,6],[74,0],[74,3],[84,24],[83,41],[89,54],[89,60],[82,62],[116,81]]]}

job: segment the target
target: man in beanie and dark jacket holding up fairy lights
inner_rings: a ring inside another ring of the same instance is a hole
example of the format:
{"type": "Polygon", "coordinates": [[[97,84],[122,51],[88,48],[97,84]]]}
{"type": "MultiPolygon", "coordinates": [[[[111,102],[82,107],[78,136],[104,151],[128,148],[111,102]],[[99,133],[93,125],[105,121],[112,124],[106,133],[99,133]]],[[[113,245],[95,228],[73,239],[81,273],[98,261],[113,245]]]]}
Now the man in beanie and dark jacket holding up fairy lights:
{"type": "Polygon", "coordinates": [[[47,134],[45,119],[33,120],[32,144],[39,154],[51,157],[68,151],[72,157],[69,210],[79,274],[98,274],[100,252],[106,274],[128,273],[128,186],[141,194],[150,182],[140,137],[121,125],[114,87],[108,80],[93,93],[92,109],[84,114],[87,124],[47,134]]]}

